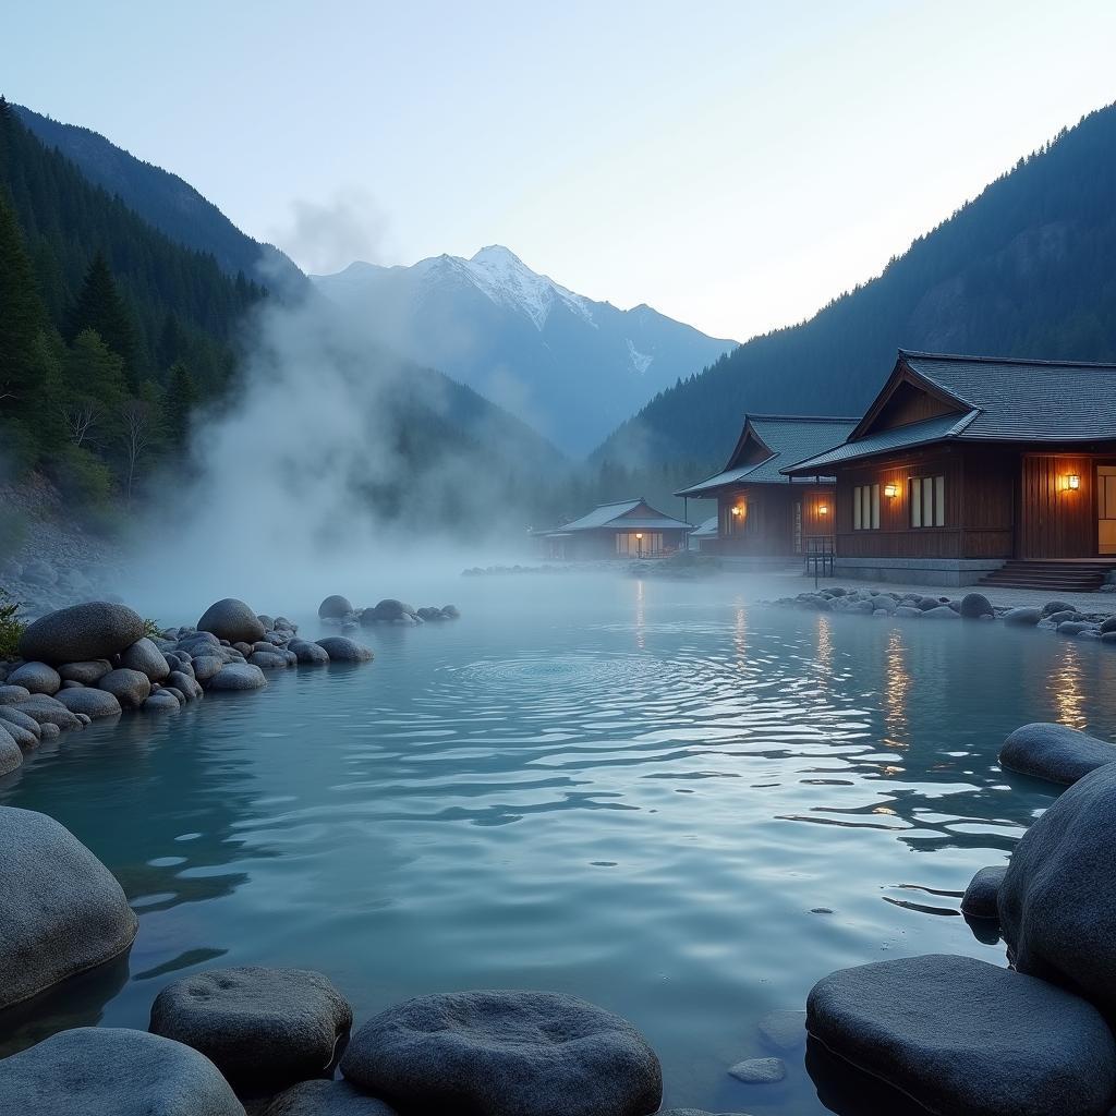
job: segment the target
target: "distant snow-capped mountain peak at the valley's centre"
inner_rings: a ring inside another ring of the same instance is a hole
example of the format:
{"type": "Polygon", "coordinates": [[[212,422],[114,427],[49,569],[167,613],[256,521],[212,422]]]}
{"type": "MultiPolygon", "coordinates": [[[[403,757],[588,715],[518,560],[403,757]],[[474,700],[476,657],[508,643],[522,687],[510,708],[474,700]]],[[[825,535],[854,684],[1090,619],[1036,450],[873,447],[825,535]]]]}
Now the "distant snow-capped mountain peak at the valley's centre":
{"type": "Polygon", "coordinates": [[[311,277],[384,344],[468,384],[583,453],[656,392],[735,341],[650,306],[619,310],[538,275],[507,248],[311,277]]]}

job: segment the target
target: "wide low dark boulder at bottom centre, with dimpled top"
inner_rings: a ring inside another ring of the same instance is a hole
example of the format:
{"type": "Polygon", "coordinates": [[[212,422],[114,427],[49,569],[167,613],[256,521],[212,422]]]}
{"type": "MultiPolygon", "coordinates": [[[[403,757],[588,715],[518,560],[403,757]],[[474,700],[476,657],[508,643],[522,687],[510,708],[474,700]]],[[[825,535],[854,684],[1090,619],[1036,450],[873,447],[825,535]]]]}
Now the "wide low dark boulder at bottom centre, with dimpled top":
{"type": "Polygon", "coordinates": [[[549,992],[410,1000],[356,1032],[341,1072],[405,1110],[475,1116],[647,1116],[663,1091],[631,1023],[549,992]]]}

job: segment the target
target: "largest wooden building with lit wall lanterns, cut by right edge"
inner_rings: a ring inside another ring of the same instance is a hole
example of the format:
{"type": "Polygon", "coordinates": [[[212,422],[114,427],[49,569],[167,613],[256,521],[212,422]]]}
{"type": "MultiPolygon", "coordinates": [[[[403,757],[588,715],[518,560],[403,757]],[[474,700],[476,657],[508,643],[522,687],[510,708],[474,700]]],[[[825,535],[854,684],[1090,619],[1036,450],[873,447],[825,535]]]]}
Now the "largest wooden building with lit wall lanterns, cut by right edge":
{"type": "Polygon", "coordinates": [[[1116,365],[901,349],[844,444],[783,471],[836,477],[838,575],[1095,587],[1116,567],[1116,365]]]}

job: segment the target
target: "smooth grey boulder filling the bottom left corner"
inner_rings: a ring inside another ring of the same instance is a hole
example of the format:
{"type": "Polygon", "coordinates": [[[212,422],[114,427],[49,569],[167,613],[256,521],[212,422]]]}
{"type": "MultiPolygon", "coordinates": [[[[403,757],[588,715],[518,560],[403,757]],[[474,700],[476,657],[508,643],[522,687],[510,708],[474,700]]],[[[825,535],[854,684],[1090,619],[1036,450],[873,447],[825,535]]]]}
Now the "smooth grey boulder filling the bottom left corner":
{"type": "Polygon", "coordinates": [[[78,1027],[3,1060],[0,1112],[28,1116],[244,1116],[196,1050],[145,1031],[78,1027]]]}

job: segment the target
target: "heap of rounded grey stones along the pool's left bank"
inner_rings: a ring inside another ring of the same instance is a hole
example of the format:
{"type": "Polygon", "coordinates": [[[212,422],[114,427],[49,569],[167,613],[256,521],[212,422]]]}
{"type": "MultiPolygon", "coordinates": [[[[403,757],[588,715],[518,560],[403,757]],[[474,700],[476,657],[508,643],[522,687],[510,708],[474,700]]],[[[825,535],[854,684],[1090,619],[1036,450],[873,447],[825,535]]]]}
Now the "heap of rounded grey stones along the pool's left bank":
{"type": "Polygon", "coordinates": [[[300,639],[290,620],[257,615],[232,598],[211,605],[196,627],[146,629],[138,613],[107,600],[30,624],[21,657],[0,663],[0,776],[22,762],[12,743],[33,748],[45,730],[80,729],[125,710],[173,711],[208,690],[259,690],[268,670],[373,657],[343,636],[300,639]]]}

